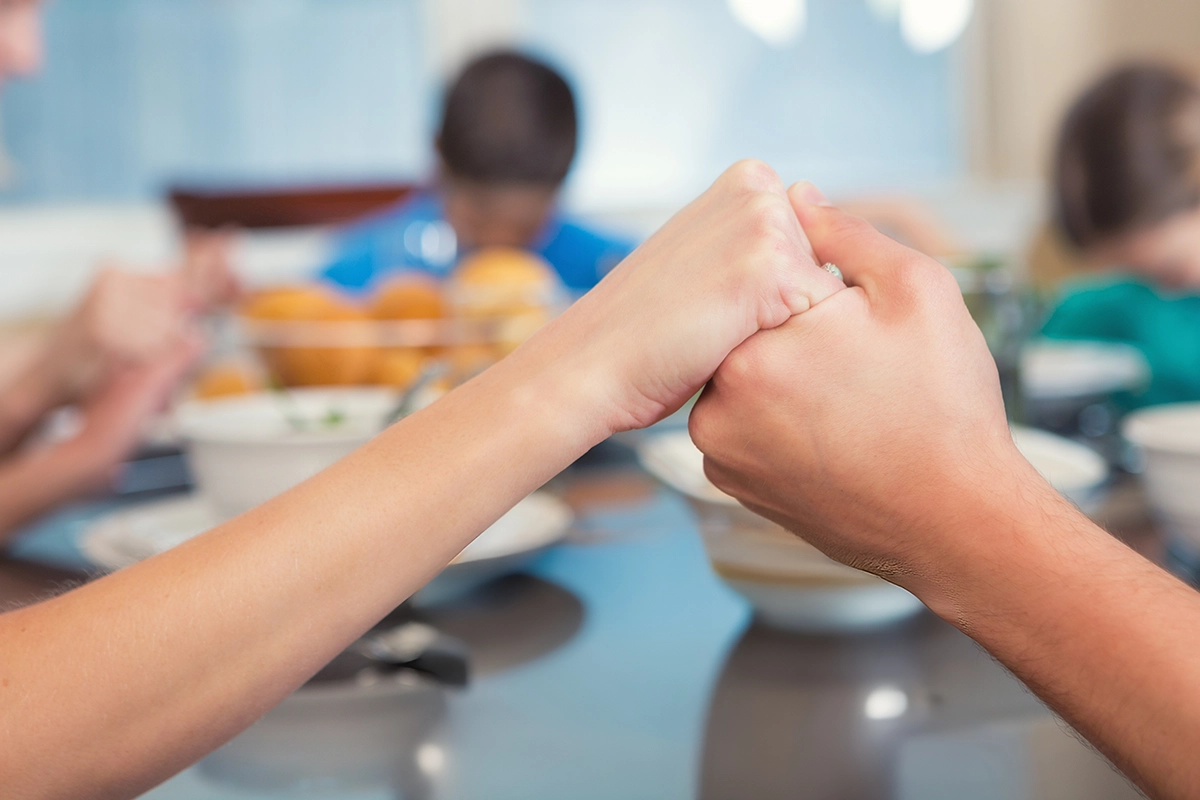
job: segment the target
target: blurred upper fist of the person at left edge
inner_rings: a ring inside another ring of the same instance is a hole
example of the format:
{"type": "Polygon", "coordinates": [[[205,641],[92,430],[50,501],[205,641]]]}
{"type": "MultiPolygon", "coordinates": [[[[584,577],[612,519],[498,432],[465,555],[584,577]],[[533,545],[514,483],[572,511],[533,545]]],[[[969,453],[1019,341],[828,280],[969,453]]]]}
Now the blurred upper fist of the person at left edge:
{"type": "Polygon", "coordinates": [[[58,399],[85,396],[114,371],[170,351],[186,337],[191,311],[179,275],[102,270],[50,342],[58,399]]]}

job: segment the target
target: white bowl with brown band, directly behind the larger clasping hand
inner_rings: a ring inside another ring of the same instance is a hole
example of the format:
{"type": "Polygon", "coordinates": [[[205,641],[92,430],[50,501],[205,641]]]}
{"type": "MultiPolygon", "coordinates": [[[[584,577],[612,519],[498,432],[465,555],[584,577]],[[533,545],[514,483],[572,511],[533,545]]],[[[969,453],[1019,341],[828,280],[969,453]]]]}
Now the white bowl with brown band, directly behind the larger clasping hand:
{"type": "MultiPolygon", "coordinates": [[[[1108,475],[1104,461],[1072,441],[1018,428],[1018,446],[1076,504],[1091,504],[1108,475]]],[[[779,525],[743,509],[704,476],[703,456],[686,431],[646,439],[638,458],[652,475],[688,497],[714,572],[776,627],[858,632],[898,622],[922,606],[872,575],[838,564],[779,525]]]]}

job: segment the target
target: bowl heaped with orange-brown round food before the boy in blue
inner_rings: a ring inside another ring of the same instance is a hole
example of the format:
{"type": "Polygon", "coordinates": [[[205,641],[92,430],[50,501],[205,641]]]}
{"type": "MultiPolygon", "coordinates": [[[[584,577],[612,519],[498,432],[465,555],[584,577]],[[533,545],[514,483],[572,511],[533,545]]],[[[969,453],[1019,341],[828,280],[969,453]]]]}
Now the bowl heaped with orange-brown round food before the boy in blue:
{"type": "Polygon", "coordinates": [[[242,336],[283,386],[404,389],[427,362],[462,381],[515,349],[565,303],[553,269],[532,253],[473,253],[445,281],[401,273],[368,296],[318,285],[268,288],[242,306],[242,336]]]}

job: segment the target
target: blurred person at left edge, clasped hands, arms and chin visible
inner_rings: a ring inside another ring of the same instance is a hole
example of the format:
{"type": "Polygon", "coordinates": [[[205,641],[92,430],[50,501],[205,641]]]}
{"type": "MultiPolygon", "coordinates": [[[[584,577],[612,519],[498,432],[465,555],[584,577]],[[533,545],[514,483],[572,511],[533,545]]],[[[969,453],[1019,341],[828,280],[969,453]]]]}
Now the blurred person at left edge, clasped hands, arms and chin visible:
{"type": "MultiPolygon", "coordinates": [[[[0,84],[42,64],[41,2],[0,0],[0,84]]],[[[0,383],[0,543],[56,505],[108,488],[142,428],[196,357],[190,317],[238,291],[221,235],[187,237],[184,269],[103,270],[83,301],[0,383]],[[26,446],[47,416],[80,408],[79,429],[26,446]]]]}

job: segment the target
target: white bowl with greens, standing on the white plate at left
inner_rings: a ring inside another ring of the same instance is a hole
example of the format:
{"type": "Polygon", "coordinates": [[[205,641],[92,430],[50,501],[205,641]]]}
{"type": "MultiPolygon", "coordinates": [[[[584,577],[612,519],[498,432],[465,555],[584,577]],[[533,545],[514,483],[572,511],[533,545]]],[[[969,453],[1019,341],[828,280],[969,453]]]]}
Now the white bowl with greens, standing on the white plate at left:
{"type": "Polygon", "coordinates": [[[370,441],[396,402],[384,389],[258,392],[185,403],[176,421],[197,487],[233,517],[370,441]]]}

